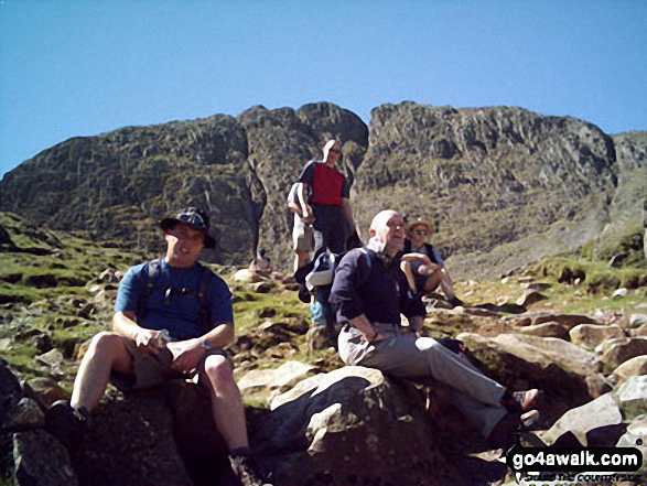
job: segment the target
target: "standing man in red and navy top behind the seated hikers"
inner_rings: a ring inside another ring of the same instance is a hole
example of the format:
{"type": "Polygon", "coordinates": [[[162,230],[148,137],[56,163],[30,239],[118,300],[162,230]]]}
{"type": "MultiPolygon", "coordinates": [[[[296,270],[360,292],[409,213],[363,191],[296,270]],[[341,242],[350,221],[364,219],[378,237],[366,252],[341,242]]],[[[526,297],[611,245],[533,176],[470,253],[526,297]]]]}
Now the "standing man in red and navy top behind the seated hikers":
{"type": "Polygon", "coordinates": [[[346,240],[356,230],[351,185],[335,169],[341,158],[339,142],[328,140],[323,148],[323,160],[310,161],[299,176],[301,214],[303,222],[315,229],[315,256],[326,248],[333,253],[344,252],[346,240]]]}

